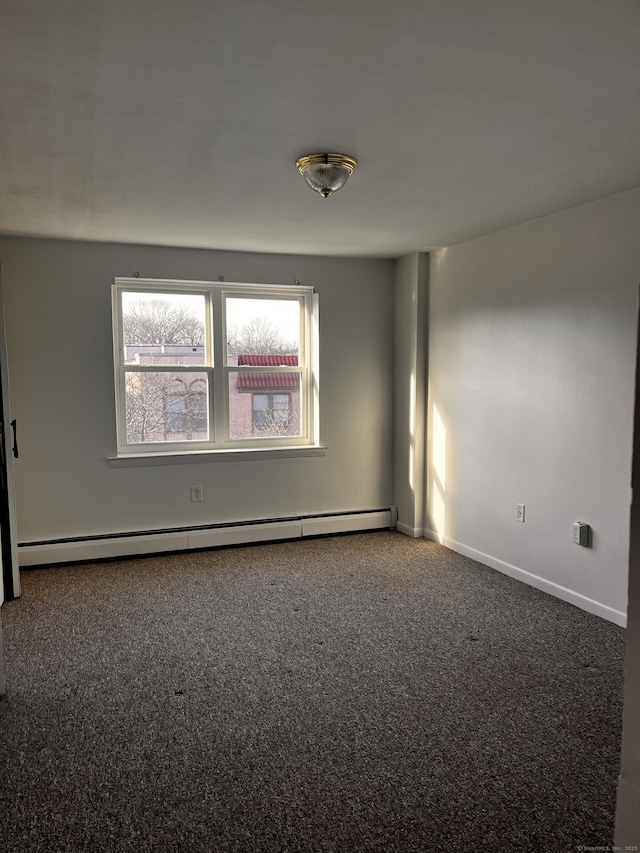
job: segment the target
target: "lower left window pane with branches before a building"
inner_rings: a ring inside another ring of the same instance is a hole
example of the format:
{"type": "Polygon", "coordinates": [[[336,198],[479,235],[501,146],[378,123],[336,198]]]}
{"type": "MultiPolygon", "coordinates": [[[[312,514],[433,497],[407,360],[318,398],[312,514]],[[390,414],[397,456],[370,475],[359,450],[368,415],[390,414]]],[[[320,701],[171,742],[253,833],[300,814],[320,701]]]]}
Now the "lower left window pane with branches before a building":
{"type": "Polygon", "coordinates": [[[206,441],[206,373],[126,374],[127,443],[206,441]]]}

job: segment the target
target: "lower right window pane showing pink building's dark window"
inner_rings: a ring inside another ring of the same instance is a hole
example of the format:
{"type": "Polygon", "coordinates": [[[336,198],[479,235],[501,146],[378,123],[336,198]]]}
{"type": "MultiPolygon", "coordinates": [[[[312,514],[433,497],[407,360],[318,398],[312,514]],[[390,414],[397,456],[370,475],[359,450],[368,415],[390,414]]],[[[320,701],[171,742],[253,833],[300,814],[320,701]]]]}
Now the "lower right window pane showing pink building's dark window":
{"type": "Polygon", "coordinates": [[[229,374],[229,435],[283,438],[301,435],[300,373],[229,374]]]}

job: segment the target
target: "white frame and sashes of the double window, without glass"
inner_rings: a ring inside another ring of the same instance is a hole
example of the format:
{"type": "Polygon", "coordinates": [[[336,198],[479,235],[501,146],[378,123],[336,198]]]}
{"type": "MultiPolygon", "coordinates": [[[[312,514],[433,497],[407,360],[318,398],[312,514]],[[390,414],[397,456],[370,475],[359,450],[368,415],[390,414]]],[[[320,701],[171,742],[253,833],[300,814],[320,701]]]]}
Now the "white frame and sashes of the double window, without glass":
{"type": "Polygon", "coordinates": [[[312,287],[303,285],[266,285],[230,282],[182,281],[174,279],[116,278],[112,286],[113,353],[116,409],[117,458],[132,456],[179,456],[246,452],[249,450],[287,450],[318,447],[318,301],[312,287]],[[184,293],[205,297],[205,363],[197,365],[125,364],[122,324],[122,294],[184,293]],[[228,298],[287,299],[300,306],[300,349],[298,365],[236,366],[227,363],[226,315],[228,298]],[[255,373],[298,373],[300,375],[299,436],[250,436],[232,439],[229,425],[229,378],[242,371],[255,373]],[[208,383],[209,438],[207,440],[139,442],[127,441],[126,376],[128,373],[205,373],[208,383]]]}

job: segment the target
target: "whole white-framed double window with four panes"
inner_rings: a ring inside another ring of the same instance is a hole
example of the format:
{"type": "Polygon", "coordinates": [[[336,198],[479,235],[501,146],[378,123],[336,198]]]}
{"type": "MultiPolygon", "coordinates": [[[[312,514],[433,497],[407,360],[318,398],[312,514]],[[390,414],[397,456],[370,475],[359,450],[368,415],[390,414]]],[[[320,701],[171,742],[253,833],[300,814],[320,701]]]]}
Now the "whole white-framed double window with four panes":
{"type": "Polygon", "coordinates": [[[116,279],[118,454],[317,442],[309,287],[116,279]]]}

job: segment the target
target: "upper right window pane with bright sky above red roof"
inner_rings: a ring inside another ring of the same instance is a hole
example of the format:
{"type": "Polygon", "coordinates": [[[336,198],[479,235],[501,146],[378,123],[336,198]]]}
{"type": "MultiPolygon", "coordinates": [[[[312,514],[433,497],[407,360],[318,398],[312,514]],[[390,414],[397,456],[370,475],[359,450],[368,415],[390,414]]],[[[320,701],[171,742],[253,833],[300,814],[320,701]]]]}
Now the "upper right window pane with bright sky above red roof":
{"type": "MultiPolygon", "coordinates": [[[[300,303],[297,299],[227,298],[226,313],[227,364],[238,364],[238,356],[242,355],[299,354],[300,303]]],[[[278,364],[276,358],[273,366],[278,364]]],[[[290,362],[285,360],[282,364],[290,362]]]]}

